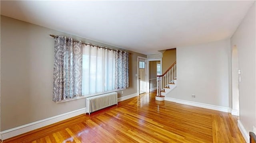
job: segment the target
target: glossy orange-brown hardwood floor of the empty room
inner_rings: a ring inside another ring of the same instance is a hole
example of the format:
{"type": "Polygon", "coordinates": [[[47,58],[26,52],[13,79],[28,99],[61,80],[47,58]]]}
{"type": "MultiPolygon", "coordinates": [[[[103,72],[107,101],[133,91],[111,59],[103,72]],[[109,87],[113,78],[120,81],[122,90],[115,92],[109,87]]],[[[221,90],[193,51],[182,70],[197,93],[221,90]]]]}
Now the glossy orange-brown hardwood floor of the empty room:
{"type": "Polygon", "coordinates": [[[245,143],[236,116],[154,97],[142,94],[3,143],[245,143]]]}

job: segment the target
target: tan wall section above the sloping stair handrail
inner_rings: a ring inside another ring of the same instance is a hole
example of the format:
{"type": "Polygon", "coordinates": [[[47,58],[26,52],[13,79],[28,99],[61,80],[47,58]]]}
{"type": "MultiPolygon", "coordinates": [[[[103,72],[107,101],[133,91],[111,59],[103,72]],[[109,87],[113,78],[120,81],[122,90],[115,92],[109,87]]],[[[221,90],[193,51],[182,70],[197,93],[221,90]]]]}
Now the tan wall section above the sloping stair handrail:
{"type": "Polygon", "coordinates": [[[164,73],[176,61],[176,48],[168,49],[163,53],[162,73],[164,73]]]}

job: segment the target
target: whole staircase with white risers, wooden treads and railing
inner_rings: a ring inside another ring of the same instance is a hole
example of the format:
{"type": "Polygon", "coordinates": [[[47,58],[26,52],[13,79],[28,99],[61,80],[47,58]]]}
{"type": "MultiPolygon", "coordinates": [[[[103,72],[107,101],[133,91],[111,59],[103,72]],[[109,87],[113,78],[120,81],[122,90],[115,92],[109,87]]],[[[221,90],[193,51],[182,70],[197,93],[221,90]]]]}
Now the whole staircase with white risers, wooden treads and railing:
{"type": "Polygon", "coordinates": [[[176,62],[174,62],[164,74],[157,76],[156,100],[163,101],[165,95],[176,87],[176,76],[176,62]]]}

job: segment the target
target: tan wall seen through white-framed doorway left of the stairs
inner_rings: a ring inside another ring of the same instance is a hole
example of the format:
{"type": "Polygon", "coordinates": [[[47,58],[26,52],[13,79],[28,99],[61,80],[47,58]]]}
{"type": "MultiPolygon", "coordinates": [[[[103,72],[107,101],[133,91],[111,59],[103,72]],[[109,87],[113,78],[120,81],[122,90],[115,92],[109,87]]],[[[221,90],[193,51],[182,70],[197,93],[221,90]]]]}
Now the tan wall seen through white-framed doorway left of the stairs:
{"type": "Polygon", "coordinates": [[[150,61],[149,62],[149,84],[150,84],[150,89],[156,87],[156,62],[157,61],[150,61]]]}

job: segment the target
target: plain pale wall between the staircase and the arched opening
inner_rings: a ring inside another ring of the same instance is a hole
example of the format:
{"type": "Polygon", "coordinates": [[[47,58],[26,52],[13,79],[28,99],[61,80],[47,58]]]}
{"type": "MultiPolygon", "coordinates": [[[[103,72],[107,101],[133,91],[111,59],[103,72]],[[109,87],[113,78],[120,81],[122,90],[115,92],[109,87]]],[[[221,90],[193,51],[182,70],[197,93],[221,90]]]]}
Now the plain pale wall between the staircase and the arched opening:
{"type": "Polygon", "coordinates": [[[177,86],[167,97],[231,107],[230,39],[176,49],[177,86]]]}

